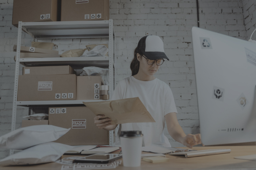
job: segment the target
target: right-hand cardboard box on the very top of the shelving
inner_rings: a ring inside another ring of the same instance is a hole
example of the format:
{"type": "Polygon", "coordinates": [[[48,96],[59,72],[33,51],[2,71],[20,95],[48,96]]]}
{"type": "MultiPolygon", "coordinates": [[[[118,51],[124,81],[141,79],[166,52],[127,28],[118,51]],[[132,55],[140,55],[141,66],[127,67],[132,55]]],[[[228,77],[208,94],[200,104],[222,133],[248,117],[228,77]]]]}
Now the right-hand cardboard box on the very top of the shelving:
{"type": "Polygon", "coordinates": [[[109,0],[61,0],[61,21],[109,20],[109,0]]]}

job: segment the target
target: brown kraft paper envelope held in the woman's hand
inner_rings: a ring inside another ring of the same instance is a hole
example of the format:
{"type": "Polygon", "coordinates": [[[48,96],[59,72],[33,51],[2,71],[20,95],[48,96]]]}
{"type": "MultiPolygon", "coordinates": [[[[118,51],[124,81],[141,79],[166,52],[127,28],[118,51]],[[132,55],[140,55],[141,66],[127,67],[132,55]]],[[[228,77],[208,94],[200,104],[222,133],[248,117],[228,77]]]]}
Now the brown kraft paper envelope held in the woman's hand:
{"type": "Polygon", "coordinates": [[[147,111],[139,97],[103,101],[83,102],[96,116],[105,115],[113,120],[112,124],[156,122],[147,111]]]}

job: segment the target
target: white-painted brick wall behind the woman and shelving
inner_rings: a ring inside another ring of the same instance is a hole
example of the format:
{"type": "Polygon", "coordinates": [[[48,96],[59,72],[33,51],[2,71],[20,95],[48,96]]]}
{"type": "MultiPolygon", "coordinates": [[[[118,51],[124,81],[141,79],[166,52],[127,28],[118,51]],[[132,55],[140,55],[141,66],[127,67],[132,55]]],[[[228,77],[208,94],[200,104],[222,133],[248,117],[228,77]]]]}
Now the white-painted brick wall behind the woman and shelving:
{"type": "MultiPolygon", "coordinates": [[[[191,44],[191,28],[197,26],[196,0],[110,0],[110,18],[116,35],[117,81],[131,75],[130,62],[138,41],[145,35],[158,35],[170,61],[159,69],[156,77],[172,89],[177,118],[186,134],[199,133],[195,69],[191,44]]],[[[246,30],[255,24],[254,0],[199,0],[200,27],[229,36],[246,39],[246,30]],[[246,10],[243,10],[243,7],[246,10]],[[246,12],[247,11],[247,12],[246,12]],[[251,16],[247,17],[248,15],[251,16]],[[245,16],[245,17],[244,17],[245,16]],[[244,26],[245,23],[245,26],[244,26]]],[[[15,63],[11,52],[17,42],[17,28],[12,26],[12,0],[0,0],[0,136],[10,132],[15,63]]],[[[248,30],[248,32],[250,32],[248,30]]],[[[33,39],[22,33],[22,45],[30,46],[33,39]]],[[[58,45],[62,53],[88,44],[108,43],[105,38],[44,40],[58,45]]],[[[21,66],[20,66],[21,67],[21,66]]],[[[18,107],[16,128],[20,128],[26,107],[18,107]]],[[[183,146],[174,141],[165,128],[173,147],[183,146]]],[[[8,151],[0,150],[0,158],[8,151]]]]}

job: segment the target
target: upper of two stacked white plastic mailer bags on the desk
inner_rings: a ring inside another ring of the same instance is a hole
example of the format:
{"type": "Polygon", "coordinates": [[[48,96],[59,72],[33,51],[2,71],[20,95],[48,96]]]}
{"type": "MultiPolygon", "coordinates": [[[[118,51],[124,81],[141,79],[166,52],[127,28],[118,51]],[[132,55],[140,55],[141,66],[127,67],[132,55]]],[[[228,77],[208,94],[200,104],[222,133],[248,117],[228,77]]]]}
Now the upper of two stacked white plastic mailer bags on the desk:
{"type": "Polygon", "coordinates": [[[23,150],[41,143],[52,142],[69,129],[53,125],[34,125],[16,129],[0,137],[0,148],[23,150]]]}

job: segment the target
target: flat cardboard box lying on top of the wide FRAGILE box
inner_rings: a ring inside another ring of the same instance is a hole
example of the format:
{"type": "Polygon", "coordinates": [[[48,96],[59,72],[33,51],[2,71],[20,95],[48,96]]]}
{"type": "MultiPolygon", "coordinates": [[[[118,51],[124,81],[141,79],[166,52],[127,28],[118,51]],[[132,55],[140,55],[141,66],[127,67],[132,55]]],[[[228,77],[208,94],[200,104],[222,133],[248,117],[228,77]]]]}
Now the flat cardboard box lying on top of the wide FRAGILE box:
{"type": "Polygon", "coordinates": [[[23,67],[23,75],[76,74],[70,66],[23,67]]]}

